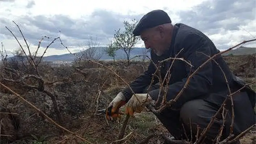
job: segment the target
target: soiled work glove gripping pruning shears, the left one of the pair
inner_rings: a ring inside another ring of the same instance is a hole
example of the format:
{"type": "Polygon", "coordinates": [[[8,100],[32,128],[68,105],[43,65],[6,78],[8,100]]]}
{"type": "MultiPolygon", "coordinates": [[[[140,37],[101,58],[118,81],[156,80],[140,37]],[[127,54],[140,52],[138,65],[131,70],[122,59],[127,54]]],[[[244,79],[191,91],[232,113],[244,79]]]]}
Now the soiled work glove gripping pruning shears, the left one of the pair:
{"type": "Polygon", "coordinates": [[[119,92],[115,99],[110,102],[106,111],[106,118],[108,120],[112,120],[120,116],[119,109],[121,106],[125,105],[125,100],[123,93],[119,92]]]}

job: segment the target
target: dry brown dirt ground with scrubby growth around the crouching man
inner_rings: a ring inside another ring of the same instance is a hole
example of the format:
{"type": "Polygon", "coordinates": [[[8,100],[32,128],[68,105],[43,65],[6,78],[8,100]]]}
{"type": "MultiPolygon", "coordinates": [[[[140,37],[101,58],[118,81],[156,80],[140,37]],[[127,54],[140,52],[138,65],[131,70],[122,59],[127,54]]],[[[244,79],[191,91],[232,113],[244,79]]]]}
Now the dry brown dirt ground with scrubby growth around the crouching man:
{"type": "MultiPolygon", "coordinates": [[[[255,81],[255,55],[224,58],[235,75],[247,83],[255,81]]],[[[108,62],[104,65],[114,69],[126,82],[131,82],[146,69],[148,63],[133,62],[128,67],[122,62],[115,65],[108,62]]],[[[45,89],[56,97],[61,126],[94,144],[109,144],[117,140],[123,117],[116,121],[106,121],[104,113],[95,112],[107,107],[124,88],[123,81],[104,67],[90,62],[61,67],[43,65],[40,67],[40,75],[44,79],[45,89]]],[[[3,77],[18,79],[17,75],[7,72],[3,77]]],[[[17,82],[1,82],[57,122],[54,104],[45,92],[21,87],[17,82]]],[[[28,83],[34,82],[29,80],[28,83]]],[[[255,84],[252,87],[256,89],[255,84]]],[[[52,124],[3,87],[0,87],[0,112],[0,144],[86,144],[77,136],[52,124]]],[[[255,131],[252,129],[243,136],[241,144],[255,144],[255,131]]],[[[161,144],[163,140],[159,135],[170,136],[152,113],[143,112],[130,119],[125,131],[127,139],[122,143],[137,144],[153,136],[148,143],[161,144]]]]}

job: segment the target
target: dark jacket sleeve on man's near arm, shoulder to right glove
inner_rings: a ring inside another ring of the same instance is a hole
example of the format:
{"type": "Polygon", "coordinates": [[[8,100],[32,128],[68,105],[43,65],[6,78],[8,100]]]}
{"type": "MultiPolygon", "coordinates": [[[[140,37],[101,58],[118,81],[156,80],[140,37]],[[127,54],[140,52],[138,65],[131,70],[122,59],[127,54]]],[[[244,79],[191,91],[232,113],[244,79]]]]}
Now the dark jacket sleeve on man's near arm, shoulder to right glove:
{"type": "MultiPolygon", "coordinates": [[[[191,66],[185,64],[187,77],[183,78],[180,82],[176,82],[168,86],[166,96],[167,101],[174,99],[184,87],[188,80],[188,76],[209,59],[209,57],[204,54],[212,56],[211,49],[213,47],[214,45],[210,40],[206,40],[198,34],[191,33],[184,38],[180,48],[184,48],[183,57],[185,60],[190,61],[193,67],[191,68],[191,66]]],[[[209,61],[204,65],[204,67],[201,67],[193,77],[190,78],[188,86],[184,89],[182,95],[174,103],[172,108],[179,109],[185,102],[206,95],[213,83],[212,75],[212,61],[209,61]]],[[[158,93],[159,89],[149,92],[150,95],[158,95],[158,93]]]]}

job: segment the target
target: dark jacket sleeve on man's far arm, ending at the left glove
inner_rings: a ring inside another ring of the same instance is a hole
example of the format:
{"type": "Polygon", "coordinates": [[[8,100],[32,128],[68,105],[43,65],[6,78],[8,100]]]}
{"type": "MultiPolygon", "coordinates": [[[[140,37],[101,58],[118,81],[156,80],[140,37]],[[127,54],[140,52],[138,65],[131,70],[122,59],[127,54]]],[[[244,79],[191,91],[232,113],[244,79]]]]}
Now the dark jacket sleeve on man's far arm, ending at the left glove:
{"type": "MultiPolygon", "coordinates": [[[[152,56],[152,54],[151,54],[151,56],[152,56]]],[[[131,82],[131,84],[129,84],[129,86],[132,88],[132,90],[135,93],[143,93],[145,88],[148,87],[149,84],[151,83],[152,76],[155,73],[155,70],[156,70],[155,65],[153,64],[153,62],[150,62],[148,69],[143,74],[138,76],[133,82],[131,82]]],[[[153,84],[155,84],[157,82],[158,82],[158,79],[154,78],[153,84]]],[[[129,87],[126,87],[122,91],[122,93],[125,96],[126,102],[128,102],[133,95],[133,93],[129,87]]]]}

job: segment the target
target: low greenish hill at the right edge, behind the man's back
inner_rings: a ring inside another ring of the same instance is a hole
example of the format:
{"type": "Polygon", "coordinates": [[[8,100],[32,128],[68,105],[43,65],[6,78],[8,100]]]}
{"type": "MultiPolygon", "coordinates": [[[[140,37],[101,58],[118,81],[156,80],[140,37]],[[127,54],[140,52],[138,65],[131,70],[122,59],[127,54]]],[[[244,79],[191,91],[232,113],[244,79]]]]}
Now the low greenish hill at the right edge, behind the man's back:
{"type": "Polygon", "coordinates": [[[254,54],[256,53],[256,48],[251,47],[239,47],[236,49],[232,49],[229,52],[223,53],[223,56],[227,55],[234,55],[234,56],[241,56],[241,55],[247,55],[247,54],[254,54]]]}

